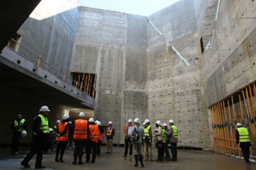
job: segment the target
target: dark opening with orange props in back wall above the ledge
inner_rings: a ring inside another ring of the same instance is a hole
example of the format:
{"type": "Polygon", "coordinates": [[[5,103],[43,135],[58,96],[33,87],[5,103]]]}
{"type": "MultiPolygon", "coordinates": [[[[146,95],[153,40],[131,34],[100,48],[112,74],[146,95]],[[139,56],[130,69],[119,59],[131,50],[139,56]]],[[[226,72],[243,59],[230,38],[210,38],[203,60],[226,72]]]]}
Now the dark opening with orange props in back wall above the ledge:
{"type": "Polygon", "coordinates": [[[96,74],[72,73],[72,85],[95,99],[96,74]]]}

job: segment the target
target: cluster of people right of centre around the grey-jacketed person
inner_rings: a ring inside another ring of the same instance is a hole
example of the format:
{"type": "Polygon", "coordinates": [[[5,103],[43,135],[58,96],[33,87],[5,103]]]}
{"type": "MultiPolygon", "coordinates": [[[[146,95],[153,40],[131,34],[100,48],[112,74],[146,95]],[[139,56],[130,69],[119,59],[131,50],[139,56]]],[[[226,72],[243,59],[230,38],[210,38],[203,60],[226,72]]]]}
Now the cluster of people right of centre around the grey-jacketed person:
{"type": "Polygon", "coordinates": [[[169,129],[166,123],[161,123],[160,120],[156,121],[156,129],[153,131],[149,119],[145,119],[143,126],[140,124],[139,118],[135,118],[134,124],[132,123],[132,119],[129,119],[124,128],[125,150],[122,156],[128,156],[129,150],[129,156],[132,157],[132,152],[134,152],[134,166],[138,166],[138,161],[140,160],[142,167],[144,167],[143,161],[154,161],[152,157],[152,144],[154,142],[158,149],[156,161],[164,161],[164,158],[177,161],[178,129],[174,125],[173,119],[169,119],[169,129]],[[139,134],[139,139],[135,139],[137,134],[139,134]],[[169,155],[168,144],[171,144],[172,158],[169,155]]]}

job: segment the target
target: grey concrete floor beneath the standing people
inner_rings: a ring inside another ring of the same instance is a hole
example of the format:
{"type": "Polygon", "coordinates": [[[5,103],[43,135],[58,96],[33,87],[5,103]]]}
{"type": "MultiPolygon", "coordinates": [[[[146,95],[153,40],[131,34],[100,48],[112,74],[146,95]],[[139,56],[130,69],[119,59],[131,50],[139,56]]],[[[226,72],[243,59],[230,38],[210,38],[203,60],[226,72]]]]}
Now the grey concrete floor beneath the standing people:
{"type": "MultiPolygon", "coordinates": [[[[12,156],[9,149],[0,150],[0,169],[24,169],[20,162],[28,152],[22,148],[20,155],[12,156]]],[[[67,149],[64,155],[66,163],[55,163],[54,151],[43,156],[43,165],[47,169],[138,169],[134,167],[134,158],[122,158],[124,147],[114,147],[111,155],[105,153],[105,146],[101,147],[101,156],[96,158],[96,163],[84,163],[82,165],[72,164],[73,151],[67,149]]],[[[153,148],[153,157],[156,159],[157,150],[153,148]]],[[[83,156],[85,162],[85,156],[83,156]]],[[[29,163],[30,169],[35,166],[35,156],[29,163]]],[[[139,164],[140,169],[140,164],[139,164]]],[[[244,160],[224,156],[213,152],[197,150],[178,150],[178,161],[145,162],[144,169],[256,169],[256,163],[245,164],[244,160]]]]}

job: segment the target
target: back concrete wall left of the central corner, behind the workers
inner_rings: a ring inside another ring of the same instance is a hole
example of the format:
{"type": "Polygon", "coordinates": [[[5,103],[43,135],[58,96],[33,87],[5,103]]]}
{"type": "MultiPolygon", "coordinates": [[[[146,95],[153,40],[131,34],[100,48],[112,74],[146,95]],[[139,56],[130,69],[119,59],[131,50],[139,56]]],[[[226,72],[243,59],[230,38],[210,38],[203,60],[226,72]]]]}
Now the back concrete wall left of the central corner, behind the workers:
{"type": "Polygon", "coordinates": [[[146,19],[79,9],[71,71],[97,75],[95,118],[103,125],[113,121],[114,143],[119,144],[127,119],[147,115],[146,19]]]}

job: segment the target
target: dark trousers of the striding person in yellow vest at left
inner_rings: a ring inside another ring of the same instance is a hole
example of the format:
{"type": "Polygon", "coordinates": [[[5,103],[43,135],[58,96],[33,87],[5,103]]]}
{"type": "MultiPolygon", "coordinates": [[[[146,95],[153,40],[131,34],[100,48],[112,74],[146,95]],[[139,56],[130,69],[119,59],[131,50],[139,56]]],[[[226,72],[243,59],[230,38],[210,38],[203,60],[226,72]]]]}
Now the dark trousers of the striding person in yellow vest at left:
{"type": "Polygon", "coordinates": [[[28,162],[33,158],[33,156],[36,155],[35,167],[42,166],[43,148],[44,148],[45,142],[46,140],[43,140],[41,137],[33,136],[32,149],[30,150],[30,152],[22,162],[24,164],[28,164],[28,162]]]}

